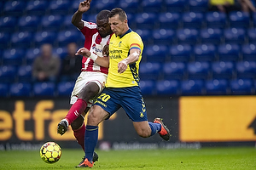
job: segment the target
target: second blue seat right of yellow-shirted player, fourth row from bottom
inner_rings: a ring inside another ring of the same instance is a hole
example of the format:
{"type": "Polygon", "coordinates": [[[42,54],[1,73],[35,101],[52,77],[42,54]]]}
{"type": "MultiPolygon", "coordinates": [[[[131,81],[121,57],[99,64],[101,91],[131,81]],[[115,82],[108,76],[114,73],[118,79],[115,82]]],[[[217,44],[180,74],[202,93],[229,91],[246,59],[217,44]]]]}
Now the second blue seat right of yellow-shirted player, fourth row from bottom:
{"type": "Polygon", "coordinates": [[[153,31],[154,44],[171,45],[175,37],[175,31],[170,29],[155,29],[153,31]]]}

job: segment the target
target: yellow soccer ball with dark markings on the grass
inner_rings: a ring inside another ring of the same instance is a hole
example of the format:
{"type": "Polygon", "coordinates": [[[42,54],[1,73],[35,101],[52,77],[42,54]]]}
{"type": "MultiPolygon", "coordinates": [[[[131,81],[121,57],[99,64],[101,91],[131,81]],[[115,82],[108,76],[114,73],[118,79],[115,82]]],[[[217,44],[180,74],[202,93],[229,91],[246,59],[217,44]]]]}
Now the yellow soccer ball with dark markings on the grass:
{"type": "Polygon", "coordinates": [[[41,147],[40,156],[46,163],[55,163],[61,158],[61,147],[55,142],[47,142],[41,147]]]}

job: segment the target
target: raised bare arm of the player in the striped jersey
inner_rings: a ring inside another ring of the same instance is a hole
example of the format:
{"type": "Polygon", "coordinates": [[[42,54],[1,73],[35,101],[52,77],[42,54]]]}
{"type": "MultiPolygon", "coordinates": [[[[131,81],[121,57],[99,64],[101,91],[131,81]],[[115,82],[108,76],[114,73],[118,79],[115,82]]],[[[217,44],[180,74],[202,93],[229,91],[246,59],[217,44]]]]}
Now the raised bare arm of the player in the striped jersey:
{"type": "Polygon", "coordinates": [[[90,2],[91,0],[86,0],[79,3],[79,9],[73,14],[71,22],[73,26],[76,26],[77,28],[79,28],[79,30],[82,30],[82,28],[84,27],[82,16],[86,11],[90,9],[90,2]]]}

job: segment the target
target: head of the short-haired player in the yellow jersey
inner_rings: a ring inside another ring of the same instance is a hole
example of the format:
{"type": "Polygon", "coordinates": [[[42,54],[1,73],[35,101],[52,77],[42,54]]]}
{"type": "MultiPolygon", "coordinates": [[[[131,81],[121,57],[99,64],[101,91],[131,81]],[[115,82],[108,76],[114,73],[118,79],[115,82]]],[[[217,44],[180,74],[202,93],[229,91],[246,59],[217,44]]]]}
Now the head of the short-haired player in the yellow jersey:
{"type": "Polygon", "coordinates": [[[121,8],[113,8],[110,11],[108,23],[116,36],[122,36],[129,29],[127,15],[121,8]]]}

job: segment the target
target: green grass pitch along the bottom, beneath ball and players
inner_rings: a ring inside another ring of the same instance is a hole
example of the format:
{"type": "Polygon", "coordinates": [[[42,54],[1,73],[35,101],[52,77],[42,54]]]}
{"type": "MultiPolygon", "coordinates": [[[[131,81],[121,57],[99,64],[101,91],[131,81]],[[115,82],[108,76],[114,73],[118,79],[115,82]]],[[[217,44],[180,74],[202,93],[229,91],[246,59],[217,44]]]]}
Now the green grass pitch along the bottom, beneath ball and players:
{"type": "MultiPolygon", "coordinates": [[[[96,161],[93,169],[256,169],[256,148],[253,147],[212,147],[199,150],[96,150],[96,152],[99,161],[96,161]]],[[[75,169],[83,155],[82,150],[62,149],[60,161],[47,164],[41,160],[39,149],[0,151],[0,169],[75,169]]]]}

